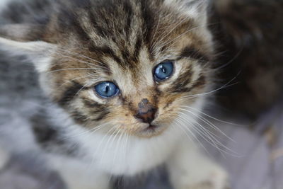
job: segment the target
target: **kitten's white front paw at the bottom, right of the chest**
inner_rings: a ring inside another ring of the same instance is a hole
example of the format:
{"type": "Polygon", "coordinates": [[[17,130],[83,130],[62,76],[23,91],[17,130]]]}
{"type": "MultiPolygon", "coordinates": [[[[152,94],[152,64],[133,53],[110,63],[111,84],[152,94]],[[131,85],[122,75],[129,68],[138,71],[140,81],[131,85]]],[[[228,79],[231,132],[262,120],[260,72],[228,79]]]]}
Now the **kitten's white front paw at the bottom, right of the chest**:
{"type": "Polygon", "coordinates": [[[202,176],[192,176],[187,184],[176,189],[230,189],[228,174],[222,168],[217,167],[202,176]]]}

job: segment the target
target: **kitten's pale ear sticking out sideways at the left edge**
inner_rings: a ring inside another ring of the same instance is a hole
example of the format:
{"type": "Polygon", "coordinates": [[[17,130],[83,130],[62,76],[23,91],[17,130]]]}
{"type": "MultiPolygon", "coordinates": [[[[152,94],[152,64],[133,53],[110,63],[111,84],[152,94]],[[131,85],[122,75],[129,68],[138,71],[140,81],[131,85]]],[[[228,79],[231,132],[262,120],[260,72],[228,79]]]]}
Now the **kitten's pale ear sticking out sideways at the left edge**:
{"type": "Polygon", "coordinates": [[[39,72],[48,70],[57,45],[41,39],[40,25],[4,25],[0,28],[0,50],[25,56],[39,72]]]}

